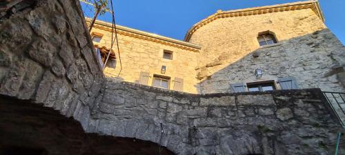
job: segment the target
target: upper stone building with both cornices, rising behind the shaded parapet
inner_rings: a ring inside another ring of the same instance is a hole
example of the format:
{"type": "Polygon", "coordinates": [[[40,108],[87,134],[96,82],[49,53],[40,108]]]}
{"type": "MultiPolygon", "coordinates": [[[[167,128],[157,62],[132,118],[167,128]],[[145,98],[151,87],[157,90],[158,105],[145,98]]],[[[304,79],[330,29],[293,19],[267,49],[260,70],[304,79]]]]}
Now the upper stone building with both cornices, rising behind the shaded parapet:
{"type": "MultiPolygon", "coordinates": [[[[144,85],[160,77],[164,85],[156,87],[197,94],[310,87],[344,92],[345,48],[324,25],[317,1],[218,10],[193,25],[184,41],[117,28],[123,67],[119,74],[113,49],[106,76],[144,85]]],[[[95,45],[109,48],[111,31],[111,23],[97,21],[95,45]]]]}

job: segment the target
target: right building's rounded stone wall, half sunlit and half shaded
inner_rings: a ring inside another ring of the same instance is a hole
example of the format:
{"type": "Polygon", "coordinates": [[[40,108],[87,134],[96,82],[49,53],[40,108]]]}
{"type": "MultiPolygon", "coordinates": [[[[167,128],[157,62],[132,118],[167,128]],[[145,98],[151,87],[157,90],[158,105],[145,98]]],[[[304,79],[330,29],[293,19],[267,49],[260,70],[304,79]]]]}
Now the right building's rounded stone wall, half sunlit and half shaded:
{"type": "Polygon", "coordinates": [[[286,76],[295,77],[299,88],[345,91],[339,83],[344,73],[337,74],[344,72],[344,45],[311,9],[216,19],[194,32],[190,42],[202,46],[196,68],[200,93],[230,92],[231,83],[286,76]],[[279,43],[260,48],[257,35],[267,30],[279,43]],[[264,72],[261,79],[255,78],[257,68],[264,72]]]}

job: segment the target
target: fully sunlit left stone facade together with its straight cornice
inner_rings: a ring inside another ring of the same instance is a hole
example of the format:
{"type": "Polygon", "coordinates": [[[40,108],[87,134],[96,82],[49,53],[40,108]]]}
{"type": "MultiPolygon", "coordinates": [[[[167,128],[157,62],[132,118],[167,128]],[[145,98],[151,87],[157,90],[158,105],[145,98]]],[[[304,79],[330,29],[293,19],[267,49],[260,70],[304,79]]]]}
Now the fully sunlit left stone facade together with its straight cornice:
{"type": "MultiPolygon", "coordinates": [[[[102,35],[102,37],[99,43],[94,41],[95,45],[100,48],[110,48],[111,31],[109,23],[97,21],[95,28],[92,28],[91,34],[102,35]]],[[[172,42],[174,39],[164,40],[166,37],[119,25],[117,26],[117,32],[122,68],[115,42],[113,52],[116,55],[116,67],[110,68],[107,66],[104,70],[106,76],[139,83],[140,72],[148,72],[150,77],[146,85],[152,85],[153,76],[156,74],[170,77],[170,90],[174,90],[175,78],[180,78],[184,80],[182,92],[197,93],[195,66],[197,66],[197,54],[200,50],[197,45],[190,47],[188,46],[189,43],[184,41],[174,43],[172,42]],[[141,34],[138,34],[138,32],[141,32],[141,34]],[[156,38],[157,36],[159,39],[156,38]],[[187,45],[181,45],[181,43],[187,45]],[[172,60],[163,58],[164,50],[172,52],[172,60]],[[162,65],[166,66],[164,74],[161,73],[162,65]]]]}

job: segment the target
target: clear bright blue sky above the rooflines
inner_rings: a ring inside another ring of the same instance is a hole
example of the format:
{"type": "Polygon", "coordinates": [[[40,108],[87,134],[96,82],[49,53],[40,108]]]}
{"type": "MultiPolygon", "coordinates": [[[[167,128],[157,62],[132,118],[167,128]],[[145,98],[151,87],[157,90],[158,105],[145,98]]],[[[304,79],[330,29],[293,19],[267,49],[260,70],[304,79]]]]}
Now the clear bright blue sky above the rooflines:
{"type": "MultiPolygon", "coordinates": [[[[183,40],[187,30],[217,10],[234,10],[296,0],[113,0],[117,24],[183,40]]],[[[345,44],[345,0],[319,0],[326,25],[345,44]]],[[[111,21],[109,14],[99,17],[111,21]]]]}

